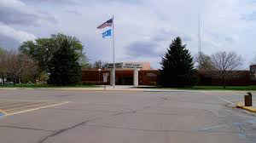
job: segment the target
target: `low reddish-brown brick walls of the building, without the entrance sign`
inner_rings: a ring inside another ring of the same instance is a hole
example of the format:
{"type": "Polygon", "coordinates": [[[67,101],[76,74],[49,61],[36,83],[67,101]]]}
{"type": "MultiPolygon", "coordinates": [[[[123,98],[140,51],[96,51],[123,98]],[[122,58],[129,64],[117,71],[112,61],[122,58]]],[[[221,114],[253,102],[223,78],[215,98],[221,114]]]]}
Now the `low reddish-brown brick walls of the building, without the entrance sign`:
{"type": "MultiPolygon", "coordinates": [[[[103,83],[103,73],[108,73],[109,70],[102,70],[99,72],[97,69],[94,70],[83,70],[82,71],[82,82],[92,84],[110,84],[110,76],[108,76],[108,82],[103,83]]],[[[231,77],[226,80],[226,85],[252,85],[256,84],[251,79],[249,71],[235,71],[231,77]]],[[[157,70],[141,70],[139,71],[138,82],[139,85],[157,85],[160,78],[160,72],[157,70]]],[[[198,85],[222,85],[221,77],[218,77],[214,72],[198,72],[199,77],[198,85]]],[[[133,70],[117,70],[116,71],[116,84],[117,85],[132,85],[133,84],[133,70]]]]}

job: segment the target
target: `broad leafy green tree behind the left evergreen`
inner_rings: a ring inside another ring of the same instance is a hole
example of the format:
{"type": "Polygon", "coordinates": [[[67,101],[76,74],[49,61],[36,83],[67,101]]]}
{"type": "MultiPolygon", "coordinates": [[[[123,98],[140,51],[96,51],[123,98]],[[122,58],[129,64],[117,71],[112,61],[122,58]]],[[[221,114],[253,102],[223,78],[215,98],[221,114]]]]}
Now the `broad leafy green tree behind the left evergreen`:
{"type": "Polygon", "coordinates": [[[49,61],[53,57],[55,51],[57,51],[64,40],[70,43],[70,48],[75,51],[75,54],[79,57],[80,66],[88,66],[88,59],[84,53],[84,46],[77,37],[71,37],[64,34],[51,35],[48,38],[38,38],[33,41],[27,41],[20,46],[20,52],[32,57],[33,60],[38,62],[38,65],[42,72],[49,71],[49,61]]]}

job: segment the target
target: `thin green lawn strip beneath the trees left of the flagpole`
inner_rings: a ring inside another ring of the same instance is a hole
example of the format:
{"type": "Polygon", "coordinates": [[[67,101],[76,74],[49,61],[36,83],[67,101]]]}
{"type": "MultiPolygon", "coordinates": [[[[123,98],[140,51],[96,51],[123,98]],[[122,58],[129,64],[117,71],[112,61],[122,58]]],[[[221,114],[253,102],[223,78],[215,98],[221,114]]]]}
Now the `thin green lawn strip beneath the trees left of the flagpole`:
{"type": "Polygon", "coordinates": [[[8,84],[0,85],[1,88],[31,88],[31,89],[60,89],[60,88],[96,88],[96,85],[70,85],[70,86],[53,86],[49,84],[8,84]]]}

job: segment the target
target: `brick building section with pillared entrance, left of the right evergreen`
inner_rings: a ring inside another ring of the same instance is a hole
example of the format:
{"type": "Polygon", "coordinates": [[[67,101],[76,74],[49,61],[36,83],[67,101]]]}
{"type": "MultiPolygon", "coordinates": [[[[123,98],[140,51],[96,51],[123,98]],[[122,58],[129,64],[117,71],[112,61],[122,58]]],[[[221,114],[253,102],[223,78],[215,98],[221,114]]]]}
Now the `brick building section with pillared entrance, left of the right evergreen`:
{"type": "MultiPolygon", "coordinates": [[[[159,72],[152,70],[149,62],[120,62],[116,63],[115,67],[116,85],[156,85],[157,83],[159,72]]],[[[113,64],[110,63],[105,69],[82,69],[82,82],[109,85],[112,81],[110,74],[112,68],[113,64]]]]}

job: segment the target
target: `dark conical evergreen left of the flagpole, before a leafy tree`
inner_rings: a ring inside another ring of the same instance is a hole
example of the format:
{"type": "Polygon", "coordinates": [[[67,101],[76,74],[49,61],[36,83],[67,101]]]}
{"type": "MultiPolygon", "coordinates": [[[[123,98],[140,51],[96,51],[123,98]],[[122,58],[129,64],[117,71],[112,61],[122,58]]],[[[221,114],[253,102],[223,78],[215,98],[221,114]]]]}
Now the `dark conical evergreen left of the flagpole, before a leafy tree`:
{"type": "Polygon", "coordinates": [[[49,61],[49,84],[70,85],[81,81],[79,54],[73,49],[73,43],[64,38],[49,61]]]}

